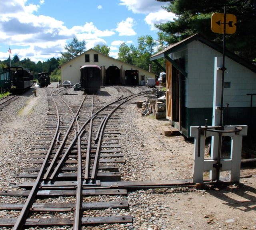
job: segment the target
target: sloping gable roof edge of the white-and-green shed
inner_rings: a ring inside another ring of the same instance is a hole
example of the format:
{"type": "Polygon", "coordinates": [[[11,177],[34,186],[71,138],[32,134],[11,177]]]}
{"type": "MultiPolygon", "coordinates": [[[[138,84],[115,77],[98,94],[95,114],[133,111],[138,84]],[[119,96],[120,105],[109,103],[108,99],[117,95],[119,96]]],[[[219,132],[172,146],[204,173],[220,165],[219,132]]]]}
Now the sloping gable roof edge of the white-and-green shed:
{"type": "MultiPolygon", "coordinates": [[[[223,52],[222,46],[220,46],[217,43],[215,43],[213,41],[210,41],[209,39],[203,37],[200,33],[196,33],[195,35],[187,37],[186,39],[184,39],[182,41],[179,41],[179,42],[177,42],[173,45],[170,45],[166,49],[152,55],[150,57],[150,60],[153,61],[153,60],[165,57],[166,55],[169,55],[170,53],[174,53],[175,51],[177,51],[178,49],[180,49],[181,47],[187,45],[188,43],[190,43],[192,41],[200,41],[200,42],[208,45],[209,47],[211,47],[212,49],[215,49],[216,51],[218,51],[220,53],[223,52]]],[[[244,67],[246,67],[246,68],[250,69],[251,71],[253,71],[254,73],[256,73],[256,65],[246,61],[245,59],[243,59],[242,57],[239,57],[238,55],[232,53],[228,49],[225,50],[225,56],[229,57],[230,59],[236,61],[237,63],[243,65],[244,67]]]]}

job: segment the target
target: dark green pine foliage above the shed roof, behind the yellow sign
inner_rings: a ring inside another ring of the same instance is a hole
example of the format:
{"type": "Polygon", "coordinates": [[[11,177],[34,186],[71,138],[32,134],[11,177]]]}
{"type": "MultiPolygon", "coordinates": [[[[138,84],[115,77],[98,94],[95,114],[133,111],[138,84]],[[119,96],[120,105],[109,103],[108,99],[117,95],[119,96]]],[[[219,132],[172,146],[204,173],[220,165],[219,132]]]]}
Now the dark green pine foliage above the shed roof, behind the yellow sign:
{"type": "Polygon", "coordinates": [[[234,14],[237,18],[236,33],[226,35],[226,47],[248,61],[256,58],[256,3],[254,0],[157,0],[168,2],[165,8],[176,14],[172,22],[158,24],[162,38],[169,44],[201,33],[222,45],[222,34],[211,31],[213,13],[234,14]]]}

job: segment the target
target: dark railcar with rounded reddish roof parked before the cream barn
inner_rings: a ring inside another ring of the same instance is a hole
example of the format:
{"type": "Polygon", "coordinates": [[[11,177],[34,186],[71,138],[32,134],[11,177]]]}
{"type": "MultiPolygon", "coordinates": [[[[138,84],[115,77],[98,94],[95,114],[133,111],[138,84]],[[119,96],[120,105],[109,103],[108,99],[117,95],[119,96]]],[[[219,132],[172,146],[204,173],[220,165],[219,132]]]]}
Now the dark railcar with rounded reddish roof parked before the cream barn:
{"type": "Polygon", "coordinates": [[[98,65],[83,65],[80,68],[80,73],[80,90],[97,93],[100,89],[100,67],[98,65]]]}

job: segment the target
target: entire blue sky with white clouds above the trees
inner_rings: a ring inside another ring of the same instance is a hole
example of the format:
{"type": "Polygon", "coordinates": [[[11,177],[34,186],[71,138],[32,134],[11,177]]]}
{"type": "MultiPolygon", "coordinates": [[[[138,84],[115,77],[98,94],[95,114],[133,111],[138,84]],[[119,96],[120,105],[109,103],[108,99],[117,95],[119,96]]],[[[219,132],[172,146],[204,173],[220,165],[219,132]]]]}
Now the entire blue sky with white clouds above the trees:
{"type": "Polygon", "coordinates": [[[156,0],[0,0],[0,60],[47,61],[61,57],[74,37],[110,47],[117,58],[120,43],[137,47],[137,39],[158,39],[154,24],[174,15],[156,0]],[[10,52],[9,52],[10,48],[10,52]]]}

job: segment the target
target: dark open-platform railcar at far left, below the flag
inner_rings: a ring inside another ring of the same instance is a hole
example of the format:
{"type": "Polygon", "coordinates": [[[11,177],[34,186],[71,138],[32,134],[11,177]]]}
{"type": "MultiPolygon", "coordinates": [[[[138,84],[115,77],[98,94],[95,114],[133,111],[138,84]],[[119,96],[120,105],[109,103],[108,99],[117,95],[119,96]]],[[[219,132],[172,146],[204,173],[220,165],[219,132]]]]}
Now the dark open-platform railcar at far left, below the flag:
{"type": "Polygon", "coordinates": [[[33,72],[21,67],[3,68],[6,87],[10,92],[23,92],[33,85],[33,72]]]}

